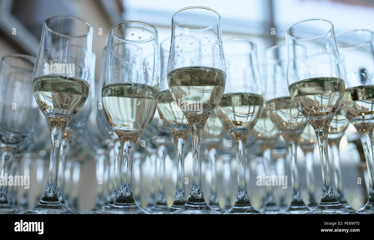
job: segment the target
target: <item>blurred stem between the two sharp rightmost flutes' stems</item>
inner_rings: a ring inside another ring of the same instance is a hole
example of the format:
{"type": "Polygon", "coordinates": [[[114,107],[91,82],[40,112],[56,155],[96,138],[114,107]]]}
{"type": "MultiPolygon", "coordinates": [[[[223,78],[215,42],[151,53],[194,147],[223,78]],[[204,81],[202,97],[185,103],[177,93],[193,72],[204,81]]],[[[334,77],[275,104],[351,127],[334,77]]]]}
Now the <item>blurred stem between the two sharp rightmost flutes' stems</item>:
{"type": "Polygon", "coordinates": [[[345,202],[343,193],[343,174],[341,173],[340,167],[339,144],[340,139],[334,139],[333,143],[330,142],[329,145],[331,148],[332,157],[334,157],[334,181],[335,186],[337,187],[337,196],[340,202],[345,202]]]}

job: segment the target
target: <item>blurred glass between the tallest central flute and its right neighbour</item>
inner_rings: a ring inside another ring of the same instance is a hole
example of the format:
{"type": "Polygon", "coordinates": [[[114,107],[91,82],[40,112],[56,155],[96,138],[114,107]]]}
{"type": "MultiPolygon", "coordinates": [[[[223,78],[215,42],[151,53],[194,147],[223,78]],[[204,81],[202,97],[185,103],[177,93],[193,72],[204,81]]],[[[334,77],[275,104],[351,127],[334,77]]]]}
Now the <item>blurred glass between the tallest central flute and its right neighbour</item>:
{"type": "Polygon", "coordinates": [[[226,212],[218,203],[216,160],[218,150],[220,150],[222,140],[226,135],[227,130],[228,129],[224,124],[222,124],[221,119],[218,116],[217,109],[213,110],[204,127],[203,144],[208,155],[210,172],[209,180],[211,183],[208,204],[218,213],[226,212]]]}

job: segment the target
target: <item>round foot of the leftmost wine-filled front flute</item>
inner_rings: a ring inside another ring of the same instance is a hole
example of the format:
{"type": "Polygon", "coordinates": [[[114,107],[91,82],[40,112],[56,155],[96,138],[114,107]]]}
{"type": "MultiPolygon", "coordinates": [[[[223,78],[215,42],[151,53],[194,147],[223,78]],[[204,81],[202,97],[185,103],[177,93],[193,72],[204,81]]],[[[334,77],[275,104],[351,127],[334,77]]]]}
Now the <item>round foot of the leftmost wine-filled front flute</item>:
{"type": "Polygon", "coordinates": [[[58,197],[43,197],[40,202],[31,209],[20,214],[74,214],[62,206],[58,197]]]}

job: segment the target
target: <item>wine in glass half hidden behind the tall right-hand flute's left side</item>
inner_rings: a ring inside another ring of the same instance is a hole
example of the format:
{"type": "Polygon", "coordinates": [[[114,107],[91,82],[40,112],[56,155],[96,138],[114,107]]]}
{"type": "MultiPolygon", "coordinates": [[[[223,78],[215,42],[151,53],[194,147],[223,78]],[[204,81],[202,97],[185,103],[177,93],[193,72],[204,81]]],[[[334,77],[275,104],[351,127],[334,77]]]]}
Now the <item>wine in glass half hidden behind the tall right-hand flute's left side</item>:
{"type": "Polygon", "coordinates": [[[292,99],[288,96],[272,99],[266,103],[266,110],[285,141],[297,142],[307,121],[292,99]]]}

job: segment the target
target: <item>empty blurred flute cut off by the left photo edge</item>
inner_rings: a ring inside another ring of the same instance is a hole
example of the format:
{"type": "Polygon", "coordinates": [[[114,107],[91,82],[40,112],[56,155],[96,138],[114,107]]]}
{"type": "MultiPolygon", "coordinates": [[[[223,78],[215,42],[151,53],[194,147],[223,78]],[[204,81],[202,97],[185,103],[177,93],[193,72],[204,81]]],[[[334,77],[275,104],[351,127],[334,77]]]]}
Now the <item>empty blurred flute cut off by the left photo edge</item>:
{"type": "MultiPolygon", "coordinates": [[[[31,80],[36,59],[21,54],[5,55],[0,63],[0,176],[11,176],[14,155],[36,140],[40,114],[33,99],[31,80]]],[[[10,204],[10,186],[0,184],[0,214],[16,213],[10,204]]]]}

